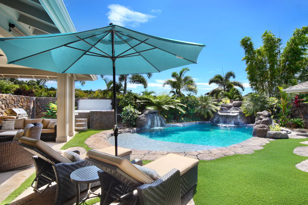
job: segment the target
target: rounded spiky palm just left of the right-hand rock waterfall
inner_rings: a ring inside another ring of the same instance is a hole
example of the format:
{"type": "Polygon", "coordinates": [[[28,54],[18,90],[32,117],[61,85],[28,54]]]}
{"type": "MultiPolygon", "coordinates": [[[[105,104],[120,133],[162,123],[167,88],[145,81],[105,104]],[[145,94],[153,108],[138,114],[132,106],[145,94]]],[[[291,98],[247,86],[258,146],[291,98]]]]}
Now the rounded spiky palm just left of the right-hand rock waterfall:
{"type": "Polygon", "coordinates": [[[213,98],[209,95],[201,95],[199,100],[200,105],[197,107],[196,112],[200,113],[205,118],[207,118],[208,115],[212,117],[213,112],[216,112],[218,109],[218,107],[214,105],[213,98]]]}

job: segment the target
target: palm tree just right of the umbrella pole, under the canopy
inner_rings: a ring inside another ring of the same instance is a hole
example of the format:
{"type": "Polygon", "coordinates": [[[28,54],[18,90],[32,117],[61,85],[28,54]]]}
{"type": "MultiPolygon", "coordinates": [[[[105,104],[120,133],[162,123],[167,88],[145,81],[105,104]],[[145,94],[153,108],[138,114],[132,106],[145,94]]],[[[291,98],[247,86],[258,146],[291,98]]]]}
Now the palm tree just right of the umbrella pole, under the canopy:
{"type": "MultiPolygon", "coordinates": [[[[152,73],[145,73],[147,78],[152,77],[152,73]]],[[[144,89],[148,87],[148,81],[142,74],[119,75],[119,81],[124,82],[123,96],[127,93],[127,83],[143,85],[144,89]]]]}

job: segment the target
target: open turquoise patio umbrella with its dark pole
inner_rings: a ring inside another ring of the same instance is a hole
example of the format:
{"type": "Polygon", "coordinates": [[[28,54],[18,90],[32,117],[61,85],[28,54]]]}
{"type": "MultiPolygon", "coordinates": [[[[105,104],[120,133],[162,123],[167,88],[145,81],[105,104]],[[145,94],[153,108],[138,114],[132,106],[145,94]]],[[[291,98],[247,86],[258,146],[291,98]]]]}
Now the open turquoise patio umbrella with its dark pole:
{"type": "MultiPolygon", "coordinates": [[[[189,31],[188,31],[189,32],[189,31]]],[[[110,24],[83,32],[0,38],[8,64],[56,73],[115,75],[155,73],[197,63],[204,44],[155,37],[110,24]]],[[[114,106],[115,154],[117,116],[114,106]]]]}

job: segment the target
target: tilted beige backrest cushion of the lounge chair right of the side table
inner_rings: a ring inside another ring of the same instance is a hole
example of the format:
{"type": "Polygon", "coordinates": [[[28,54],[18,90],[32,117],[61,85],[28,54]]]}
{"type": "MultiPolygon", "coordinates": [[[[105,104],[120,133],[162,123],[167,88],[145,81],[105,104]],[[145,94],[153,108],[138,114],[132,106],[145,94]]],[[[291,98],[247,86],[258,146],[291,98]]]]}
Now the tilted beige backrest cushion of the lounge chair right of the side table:
{"type": "Polygon", "coordinates": [[[130,161],[125,158],[112,156],[92,149],[87,152],[87,157],[115,166],[140,183],[148,184],[154,182],[153,179],[137,169],[132,163],[130,163],[130,161]]]}

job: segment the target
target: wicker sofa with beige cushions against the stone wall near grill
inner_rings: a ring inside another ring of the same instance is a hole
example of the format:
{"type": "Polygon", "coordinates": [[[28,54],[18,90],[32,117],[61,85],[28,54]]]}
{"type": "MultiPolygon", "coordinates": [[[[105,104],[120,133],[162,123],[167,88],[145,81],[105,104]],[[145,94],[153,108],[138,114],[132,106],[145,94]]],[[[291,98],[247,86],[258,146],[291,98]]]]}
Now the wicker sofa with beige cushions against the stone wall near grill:
{"type": "Polygon", "coordinates": [[[14,130],[1,130],[0,125],[0,132],[18,131],[19,129],[24,129],[27,124],[39,122],[43,124],[40,139],[43,141],[55,141],[57,137],[57,126],[55,126],[55,129],[47,129],[49,122],[52,120],[57,119],[6,119],[6,121],[15,121],[14,130]]]}

